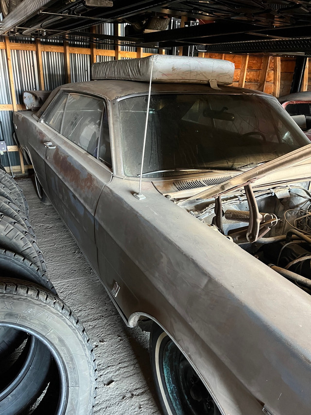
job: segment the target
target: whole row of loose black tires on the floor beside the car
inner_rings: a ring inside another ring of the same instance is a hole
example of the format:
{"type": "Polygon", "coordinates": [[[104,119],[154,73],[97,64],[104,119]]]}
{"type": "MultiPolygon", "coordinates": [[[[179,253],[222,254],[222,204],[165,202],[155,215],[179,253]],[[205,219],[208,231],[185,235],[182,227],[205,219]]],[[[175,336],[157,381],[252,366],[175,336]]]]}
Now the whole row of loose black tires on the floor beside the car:
{"type": "Polygon", "coordinates": [[[96,363],[57,296],[17,182],[0,169],[0,415],[88,415],[96,363]]]}

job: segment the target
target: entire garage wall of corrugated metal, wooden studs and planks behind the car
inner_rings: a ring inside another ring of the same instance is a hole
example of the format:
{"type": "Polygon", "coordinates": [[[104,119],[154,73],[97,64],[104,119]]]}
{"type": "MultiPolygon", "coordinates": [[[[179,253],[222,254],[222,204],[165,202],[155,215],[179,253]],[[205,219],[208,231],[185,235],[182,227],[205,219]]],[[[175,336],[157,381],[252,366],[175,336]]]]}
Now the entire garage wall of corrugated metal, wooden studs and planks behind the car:
{"type": "MultiPolygon", "coordinates": [[[[104,23],[90,30],[93,33],[122,36],[124,24],[104,23]]],[[[181,49],[176,53],[182,54],[181,49]]],[[[31,167],[24,165],[21,152],[12,137],[12,113],[25,109],[22,101],[24,90],[53,90],[65,83],[89,81],[91,64],[94,62],[144,57],[155,53],[167,52],[163,49],[95,44],[88,40],[62,42],[53,39],[0,37],[0,140],[5,140],[8,146],[8,152],[0,154],[0,162],[8,166],[9,155],[14,172],[25,173],[31,167]]],[[[233,62],[233,86],[261,90],[276,97],[290,93],[294,57],[215,53],[196,55],[233,62]]],[[[311,73],[307,62],[301,90],[310,89],[311,73]]]]}

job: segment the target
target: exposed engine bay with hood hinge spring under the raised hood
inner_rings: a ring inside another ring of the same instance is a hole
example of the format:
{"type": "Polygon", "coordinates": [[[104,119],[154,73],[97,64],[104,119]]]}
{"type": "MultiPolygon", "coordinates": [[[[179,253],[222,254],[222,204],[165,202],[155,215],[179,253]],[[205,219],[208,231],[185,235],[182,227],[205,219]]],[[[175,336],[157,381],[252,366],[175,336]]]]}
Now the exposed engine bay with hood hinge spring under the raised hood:
{"type": "Polygon", "coordinates": [[[310,181],[259,190],[248,184],[216,199],[178,205],[311,294],[309,188],[310,181]]]}

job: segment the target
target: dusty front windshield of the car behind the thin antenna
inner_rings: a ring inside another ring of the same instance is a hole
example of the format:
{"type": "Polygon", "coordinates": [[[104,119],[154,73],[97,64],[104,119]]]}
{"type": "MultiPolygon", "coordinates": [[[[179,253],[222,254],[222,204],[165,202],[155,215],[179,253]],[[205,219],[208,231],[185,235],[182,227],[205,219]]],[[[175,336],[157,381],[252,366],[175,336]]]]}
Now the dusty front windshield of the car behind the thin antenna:
{"type": "MultiPolygon", "coordinates": [[[[124,172],[140,175],[147,95],[119,101],[124,172]]],[[[151,95],[143,176],[252,168],[310,141],[269,97],[151,95]]]]}

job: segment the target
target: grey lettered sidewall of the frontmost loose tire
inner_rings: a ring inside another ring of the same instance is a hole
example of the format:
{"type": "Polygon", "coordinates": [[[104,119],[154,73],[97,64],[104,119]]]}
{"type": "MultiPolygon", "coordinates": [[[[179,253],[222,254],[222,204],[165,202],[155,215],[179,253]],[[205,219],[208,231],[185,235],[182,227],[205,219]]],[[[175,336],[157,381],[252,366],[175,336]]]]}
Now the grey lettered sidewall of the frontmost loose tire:
{"type": "Polygon", "coordinates": [[[68,384],[67,397],[66,391],[61,397],[67,402],[62,414],[92,414],[96,379],[86,340],[72,321],[55,308],[59,300],[53,296],[46,299],[43,291],[37,292],[44,297],[40,302],[23,295],[0,292],[0,324],[21,328],[49,347],[62,382],[68,384]]]}

